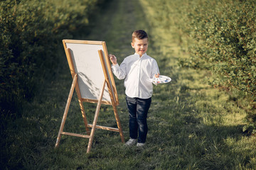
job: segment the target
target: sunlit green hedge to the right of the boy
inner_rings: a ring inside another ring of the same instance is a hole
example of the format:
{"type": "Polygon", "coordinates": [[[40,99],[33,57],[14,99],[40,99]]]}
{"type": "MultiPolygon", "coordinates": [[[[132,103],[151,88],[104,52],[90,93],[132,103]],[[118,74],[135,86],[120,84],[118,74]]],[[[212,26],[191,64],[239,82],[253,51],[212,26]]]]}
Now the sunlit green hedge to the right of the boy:
{"type": "Polygon", "coordinates": [[[248,113],[244,130],[252,132],[256,127],[256,1],[147,3],[156,11],[152,26],[164,30],[166,37],[170,34],[190,56],[181,60],[181,66],[210,70],[209,83],[233,92],[231,98],[248,113]]]}

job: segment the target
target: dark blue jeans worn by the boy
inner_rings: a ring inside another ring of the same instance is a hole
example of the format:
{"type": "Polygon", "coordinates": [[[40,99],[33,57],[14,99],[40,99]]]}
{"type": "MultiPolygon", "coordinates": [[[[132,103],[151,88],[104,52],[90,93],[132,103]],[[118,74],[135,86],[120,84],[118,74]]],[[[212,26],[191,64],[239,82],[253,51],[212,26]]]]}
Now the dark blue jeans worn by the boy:
{"type": "Polygon", "coordinates": [[[151,105],[151,98],[130,98],[126,96],[126,101],[129,111],[129,137],[132,139],[138,138],[138,143],[144,143],[148,132],[146,117],[151,105]]]}

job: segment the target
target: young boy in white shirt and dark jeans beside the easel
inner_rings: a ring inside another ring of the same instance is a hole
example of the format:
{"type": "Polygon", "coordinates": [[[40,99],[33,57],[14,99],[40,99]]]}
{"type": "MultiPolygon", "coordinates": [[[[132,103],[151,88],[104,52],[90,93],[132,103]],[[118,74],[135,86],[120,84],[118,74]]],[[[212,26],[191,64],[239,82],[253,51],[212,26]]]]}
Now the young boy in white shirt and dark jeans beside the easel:
{"type": "Polygon", "coordinates": [[[124,58],[120,64],[117,57],[110,55],[112,71],[117,79],[124,79],[124,87],[129,111],[129,137],[125,145],[142,147],[146,142],[148,127],[147,113],[151,104],[153,84],[146,79],[159,77],[159,67],[156,60],[146,55],[149,37],[144,30],[132,33],[132,47],[134,55],[124,58]],[[138,137],[139,131],[139,137],[138,137]],[[138,140],[137,140],[138,139],[138,140]]]}

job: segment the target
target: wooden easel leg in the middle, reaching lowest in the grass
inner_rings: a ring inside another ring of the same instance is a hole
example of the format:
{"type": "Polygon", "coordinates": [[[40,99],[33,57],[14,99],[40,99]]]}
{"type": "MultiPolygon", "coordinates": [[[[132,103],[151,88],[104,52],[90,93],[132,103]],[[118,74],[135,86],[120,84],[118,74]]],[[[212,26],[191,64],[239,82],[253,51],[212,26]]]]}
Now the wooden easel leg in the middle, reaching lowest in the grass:
{"type": "Polygon", "coordinates": [[[96,111],[95,111],[95,117],[94,117],[93,123],[92,123],[92,130],[91,130],[90,139],[89,139],[89,142],[88,142],[87,153],[90,152],[90,149],[92,147],[92,140],[93,140],[93,137],[94,137],[94,134],[95,134],[95,129],[96,129],[96,125],[97,125],[97,118],[98,118],[99,113],[100,113],[100,106],[101,106],[101,103],[102,103],[102,97],[103,97],[103,92],[104,92],[104,89],[105,89],[105,84],[106,84],[106,81],[104,80],[102,91],[100,93],[100,98],[98,100],[97,108],[96,108],[96,111]]]}

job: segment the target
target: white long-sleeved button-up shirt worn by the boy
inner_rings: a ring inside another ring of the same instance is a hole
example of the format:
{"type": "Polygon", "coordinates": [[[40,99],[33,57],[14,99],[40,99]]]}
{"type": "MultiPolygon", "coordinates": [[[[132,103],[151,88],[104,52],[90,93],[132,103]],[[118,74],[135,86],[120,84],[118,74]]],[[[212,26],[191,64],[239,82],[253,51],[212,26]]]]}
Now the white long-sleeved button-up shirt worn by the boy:
{"type": "Polygon", "coordinates": [[[150,98],[153,84],[146,79],[160,73],[156,60],[146,53],[142,57],[129,55],[120,66],[112,65],[112,72],[117,79],[124,79],[125,94],[131,98],[150,98]]]}

